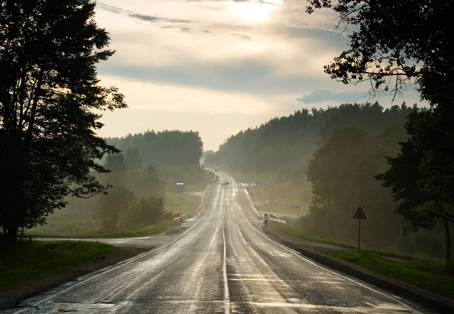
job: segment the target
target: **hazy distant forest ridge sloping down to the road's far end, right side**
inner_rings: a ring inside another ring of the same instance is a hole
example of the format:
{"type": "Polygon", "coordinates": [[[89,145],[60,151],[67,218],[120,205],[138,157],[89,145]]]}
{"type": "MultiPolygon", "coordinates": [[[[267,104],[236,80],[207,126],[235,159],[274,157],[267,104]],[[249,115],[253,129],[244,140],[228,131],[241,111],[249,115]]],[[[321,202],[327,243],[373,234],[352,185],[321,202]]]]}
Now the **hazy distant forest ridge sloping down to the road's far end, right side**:
{"type": "MultiPolygon", "coordinates": [[[[204,164],[225,165],[234,171],[305,172],[307,161],[332,130],[347,125],[381,132],[387,125],[404,125],[410,109],[403,104],[383,109],[378,103],[342,104],[326,110],[313,108],[273,118],[255,129],[241,131],[226,139],[204,164]]],[[[296,176],[295,179],[299,180],[296,176]]]]}

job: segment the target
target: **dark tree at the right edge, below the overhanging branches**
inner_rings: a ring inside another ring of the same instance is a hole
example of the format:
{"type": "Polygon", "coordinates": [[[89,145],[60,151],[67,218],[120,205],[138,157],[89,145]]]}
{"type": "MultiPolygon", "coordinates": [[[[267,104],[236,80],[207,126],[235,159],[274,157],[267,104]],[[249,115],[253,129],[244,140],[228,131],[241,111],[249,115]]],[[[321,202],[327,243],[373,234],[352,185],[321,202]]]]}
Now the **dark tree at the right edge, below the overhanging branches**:
{"type": "Polygon", "coordinates": [[[407,232],[442,223],[447,270],[453,274],[449,228],[454,224],[454,125],[450,119],[440,108],[414,109],[406,123],[411,138],[400,143],[397,157],[386,157],[390,169],[375,177],[391,187],[394,201],[399,202],[395,212],[404,217],[407,232]],[[439,132],[439,125],[445,125],[444,132],[439,132]]]}

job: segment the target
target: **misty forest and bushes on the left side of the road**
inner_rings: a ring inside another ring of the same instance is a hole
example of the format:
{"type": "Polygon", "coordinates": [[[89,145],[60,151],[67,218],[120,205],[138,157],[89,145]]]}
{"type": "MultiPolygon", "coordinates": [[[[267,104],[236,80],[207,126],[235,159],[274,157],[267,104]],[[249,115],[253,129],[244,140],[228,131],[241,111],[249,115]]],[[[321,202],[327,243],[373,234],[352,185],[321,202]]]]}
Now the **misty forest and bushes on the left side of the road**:
{"type": "MultiPolygon", "coordinates": [[[[177,182],[191,184],[204,176],[199,163],[203,143],[197,132],[146,131],[104,140],[120,150],[98,160],[110,171],[94,174],[109,187],[107,194],[88,200],[67,198],[66,214],[61,215],[74,215],[80,221],[77,226],[66,225],[64,232],[109,233],[155,224],[165,215],[170,217],[166,195],[176,191],[177,182]]],[[[37,230],[48,232],[45,227],[37,230]]]]}

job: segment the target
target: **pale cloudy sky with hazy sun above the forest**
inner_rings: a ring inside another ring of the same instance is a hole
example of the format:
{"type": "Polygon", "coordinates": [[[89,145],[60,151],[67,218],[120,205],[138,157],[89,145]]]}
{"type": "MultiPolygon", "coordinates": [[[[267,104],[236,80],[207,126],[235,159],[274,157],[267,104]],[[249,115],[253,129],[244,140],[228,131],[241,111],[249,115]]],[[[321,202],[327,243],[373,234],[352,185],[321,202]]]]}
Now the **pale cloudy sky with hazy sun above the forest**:
{"type": "Polygon", "coordinates": [[[419,103],[410,88],[392,102],[368,84],[344,85],[323,66],[348,49],[332,11],[305,0],[102,0],[95,20],[116,53],[97,65],[127,109],[103,112],[101,137],[147,130],[198,131],[204,150],[303,108],[378,101],[419,103]]]}

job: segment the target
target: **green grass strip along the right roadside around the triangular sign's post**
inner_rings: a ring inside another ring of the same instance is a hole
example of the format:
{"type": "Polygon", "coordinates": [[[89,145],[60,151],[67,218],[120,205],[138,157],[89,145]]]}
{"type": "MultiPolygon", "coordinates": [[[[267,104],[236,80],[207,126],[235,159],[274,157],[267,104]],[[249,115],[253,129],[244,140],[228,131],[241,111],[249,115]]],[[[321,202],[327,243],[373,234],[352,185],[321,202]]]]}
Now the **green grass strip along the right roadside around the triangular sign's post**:
{"type": "Polygon", "coordinates": [[[287,226],[272,223],[270,226],[286,234],[305,240],[337,244],[347,249],[329,250],[325,254],[430,291],[454,296],[454,277],[446,275],[446,262],[427,256],[412,256],[385,250],[361,249],[350,244],[320,238],[305,233],[296,219],[287,221],[287,226]]]}

